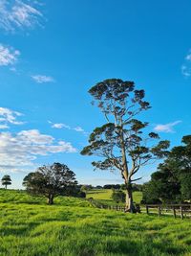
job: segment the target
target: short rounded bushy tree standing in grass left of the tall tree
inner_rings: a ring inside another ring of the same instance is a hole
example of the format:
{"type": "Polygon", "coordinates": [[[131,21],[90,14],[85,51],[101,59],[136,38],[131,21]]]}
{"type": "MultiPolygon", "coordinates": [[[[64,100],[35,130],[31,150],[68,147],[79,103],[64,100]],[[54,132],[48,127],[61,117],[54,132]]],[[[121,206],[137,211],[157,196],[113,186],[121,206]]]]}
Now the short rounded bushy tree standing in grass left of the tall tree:
{"type": "Polygon", "coordinates": [[[54,197],[74,193],[77,183],[74,176],[68,166],[53,163],[39,167],[35,173],[25,176],[23,185],[30,194],[44,196],[48,198],[49,204],[53,204],[54,197]]]}

